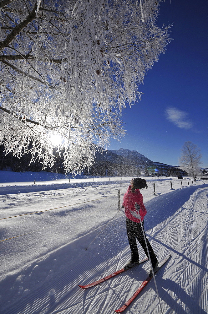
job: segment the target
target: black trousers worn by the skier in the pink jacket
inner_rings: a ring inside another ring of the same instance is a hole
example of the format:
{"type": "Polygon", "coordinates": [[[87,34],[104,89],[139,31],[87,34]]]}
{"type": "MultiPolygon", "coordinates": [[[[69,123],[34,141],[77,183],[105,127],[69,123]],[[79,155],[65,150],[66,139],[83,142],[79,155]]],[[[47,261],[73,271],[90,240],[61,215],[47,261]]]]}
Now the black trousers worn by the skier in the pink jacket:
{"type": "MultiPolygon", "coordinates": [[[[144,229],[144,221],[142,221],[143,229],[144,229]]],[[[140,222],[134,222],[126,217],[126,230],[127,230],[127,236],[129,240],[129,245],[131,249],[131,260],[132,262],[137,262],[139,260],[139,252],[137,248],[136,238],[143,247],[143,250],[145,251],[146,256],[148,257],[147,248],[145,244],[144,235],[142,232],[141,224],[140,222]]],[[[146,235],[145,235],[146,238],[146,235]]],[[[150,245],[150,242],[147,240],[147,247],[150,252],[150,259],[152,262],[153,268],[155,267],[155,264],[157,262],[157,258],[155,256],[155,253],[150,245]]]]}

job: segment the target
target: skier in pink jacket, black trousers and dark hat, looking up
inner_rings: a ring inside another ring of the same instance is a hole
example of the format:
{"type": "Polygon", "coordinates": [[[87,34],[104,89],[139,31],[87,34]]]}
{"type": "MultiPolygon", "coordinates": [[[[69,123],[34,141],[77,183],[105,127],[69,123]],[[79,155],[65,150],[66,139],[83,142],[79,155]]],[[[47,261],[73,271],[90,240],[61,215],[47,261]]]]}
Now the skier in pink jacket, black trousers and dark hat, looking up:
{"type": "MultiPolygon", "coordinates": [[[[144,179],[141,178],[134,178],[130,183],[131,185],[129,185],[127,192],[124,194],[124,202],[122,204],[122,206],[125,208],[126,230],[131,249],[131,260],[125,265],[124,268],[130,268],[133,267],[135,264],[139,263],[139,253],[136,238],[143,247],[146,256],[148,257],[145,239],[139,219],[140,214],[142,226],[144,229],[144,216],[146,215],[147,210],[143,203],[143,197],[142,194],[140,193],[140,189],[146,187],[147,183],[144,179]]],[[[158,269],[158,260],[147,238],[146,242],[150,253],[153,271],[155,273],[158,269]]]]}

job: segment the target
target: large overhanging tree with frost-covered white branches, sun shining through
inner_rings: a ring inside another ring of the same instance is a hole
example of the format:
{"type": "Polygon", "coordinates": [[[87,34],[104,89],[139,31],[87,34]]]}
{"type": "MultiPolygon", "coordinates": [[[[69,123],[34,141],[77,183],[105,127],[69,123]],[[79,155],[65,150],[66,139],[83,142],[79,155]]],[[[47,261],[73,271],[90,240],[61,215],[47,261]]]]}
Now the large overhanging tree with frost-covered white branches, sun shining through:
{"type": "Polygon", "coordinates": [[[169,42],[153,0],[0,1],[0,144],[66,172],[125,132],[121,112],[169,42]],[[58,138],[59,136],[59,138],[58,138]],[[56,143],[53,139],[56,138],[56,143]],[[59,140],[59,142],[57,142],[59,140]]]}

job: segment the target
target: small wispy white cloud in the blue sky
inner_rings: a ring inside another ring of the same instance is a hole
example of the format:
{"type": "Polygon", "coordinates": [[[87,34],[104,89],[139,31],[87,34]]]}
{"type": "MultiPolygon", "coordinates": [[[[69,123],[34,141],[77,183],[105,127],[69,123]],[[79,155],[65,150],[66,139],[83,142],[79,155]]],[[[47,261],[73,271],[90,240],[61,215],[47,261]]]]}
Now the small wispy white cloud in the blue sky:
{"type": "Polygon", "coordinates": [[[187,119],[188,113],[178,108],[167,108],[165,110],[166,119],[173,122],[177,127],[181,129],[190,129],[193,127],[193,123],[187,119]]]}

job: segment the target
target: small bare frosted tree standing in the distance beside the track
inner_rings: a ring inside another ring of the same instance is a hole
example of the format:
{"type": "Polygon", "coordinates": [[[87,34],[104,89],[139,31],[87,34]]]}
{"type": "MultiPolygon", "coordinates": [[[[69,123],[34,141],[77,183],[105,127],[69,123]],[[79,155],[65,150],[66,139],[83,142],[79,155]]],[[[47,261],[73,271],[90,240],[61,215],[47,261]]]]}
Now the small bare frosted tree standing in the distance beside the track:
{"type": "Polygon", "coordinates": [[[188,173],[193,175],[193,178],[199,171],[202,155],[200,149],[194,143],[185,142],[181,148],[181,155],[179,158],[180,165],[185,168],[188,173]]]}

